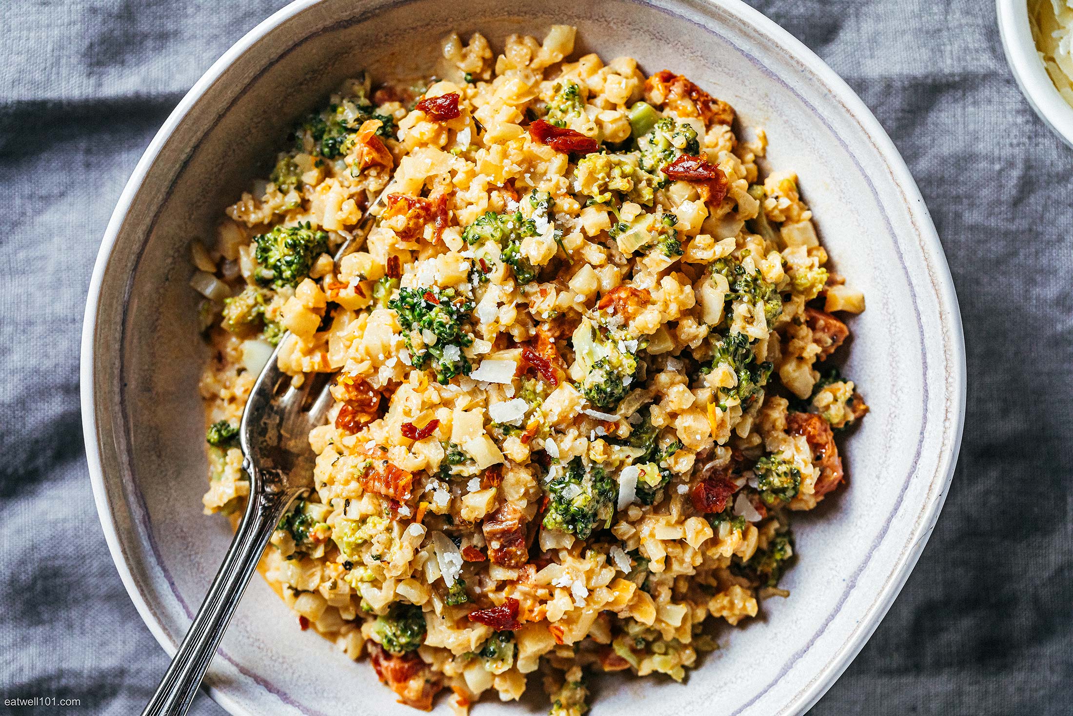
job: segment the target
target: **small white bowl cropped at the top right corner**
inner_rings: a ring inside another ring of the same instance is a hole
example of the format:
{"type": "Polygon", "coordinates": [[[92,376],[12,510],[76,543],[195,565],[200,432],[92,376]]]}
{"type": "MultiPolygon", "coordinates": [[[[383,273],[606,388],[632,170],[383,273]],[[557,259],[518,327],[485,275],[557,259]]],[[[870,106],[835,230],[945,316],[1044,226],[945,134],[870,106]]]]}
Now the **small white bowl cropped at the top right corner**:
{"type": "MultiPolygon", "coordinates": [[[[1048,2],[1049,0],[1043,0],[1048,2]]],[[[1050,130],[1073,147],[1073,107],[1062,99],[1040,60],[1026,0],[997,0],[999,34],[1006,62],[1025,99],[1050,130]]]]}

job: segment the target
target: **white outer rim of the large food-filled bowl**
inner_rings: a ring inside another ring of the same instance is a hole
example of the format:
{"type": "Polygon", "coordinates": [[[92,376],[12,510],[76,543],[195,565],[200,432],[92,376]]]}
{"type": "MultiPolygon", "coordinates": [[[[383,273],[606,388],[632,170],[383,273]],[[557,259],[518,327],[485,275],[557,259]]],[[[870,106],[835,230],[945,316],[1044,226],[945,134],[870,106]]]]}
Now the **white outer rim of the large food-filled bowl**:
{"type": "MultiPolygon", "coordinates": [[[[138,590],[133,572],[127,562],[118,528],[108,506],[107,487],[104,482],[104,469],[101,462],[100,445],[98,444],[93,388],[93,344],[95,336],[97,313],[105,267],[107,266],[112,251],[115,247],[119,230],[122,227],[123,220],[131,208],[134,196],[142,186],[146,174],[157,160],[164,143],[172,135],[176,127],[187,116],[193,105],[202,98],[208,88],[220,78],[227,68],[230,68],[231,64],[234,63],[235,60],[237,60],[254,43],[260,41],[265,34],[281,25],[283,21],[290,19],[306,9],[318,4],[320,1],[321,0],[293,0],[293,2],[258,24],[252,30],[242,35],[241,39],[239,39],[222,56],[220,56],[220,58],[214,62],[211,67],[209,67],[205,74],[199,78],[193,87],[191,87],[186,96],[183,96],[176,107],[167,116],[167,119],[161,126],[152,141],[149,143],[149,146],[146,148],[142,158],[135,165],[130,179],[123,187],[123,191],[119,196],[116,208],[113,211],[105,229],[104,237],[102,239],[90,278],[86,312],[83,323],[79,382],[83,436],[86,443],[86,459],[90,473],[90,483],[93,489],[93,500],[104,531],[105,542],[108,545],[108,551],[111,552],[113,561],[119,572],[120,580],[122,581],[131,601],[134,603],[135,609],[141,615],[142,620],[149,628],[149,631],[170,657],[174,656],[178,645],[168,638],[162,625],[157,619],[157,615],[146,601],[145,596],[138,590]]],[[[864,101],[857,97],[856,92],[854,92],[853,89],[808,46],[794,38],[789,31],[784,30],[774,20],[766,17],[763,13],[746,4],[744,0],[685,1],[689,4],[695,3],[701,5],[727,8],[733,13],[747,18],[759,30],[781,42],[784,48],[798,62],[800,62],[805,69],[812,72],[833,90],[833,93],[838,97],[839,102],[842,103],[847,112],[861,125],[862,129],[873,142],[877,151],[882,156],[884,161],[887,162],[896,185],[900,190],[902,190],[902,193],[905,194],[905,204],[909,211],[913,215],[913,223],[918,228],[921,239],[923,239],[926,245],[924,248],[930,250],[931,258],[935,261],[935,268],[938,269],[932,278],[940,310],[945,308],[949,311],[949,315],[945,316],[945,318],[950,321],[950,346],[955,354],[949,356],[951,359],[949,364],[951,375],[949,376],[947,385],[953,385],[954,393],[956,394],[955,405],[953,406],[956,414],[953,417],[955,424],[952,433],[951,449],[947,454],[942,456],[939,469],[936,471],[937,474],[940,472],[944,473],[942,484],[938,493],[935,494],[935,497],[931,498],[930,502],[925,506],[923,512],[921,513],[921,518],[917,522],[913,547],[907,553],[903,553],[900,564],[895,565],[892,571],[892,579],[886,582],[883,589],[879,595],[877,595],[876,600],[872,602],[873,605],[871,610],[866,615],[865,619],[863,619],[864,627],[857,630],[850,640],[842,644],[835,657],[827,662],[825,669],[821,673],[817,674],[810,683],[797,693],[791,704],[788,704],[794,707],[793,713],[802,714],[820,700],[820,698],[827,691],[828,688],[831,688],[835,681],[838,680],[842,672],[846,671],[861,649],[864,648],[864,645],[879,627],[880,622],[883,620],[886,612],[890,610],[894,600],[901,591],[902,586],[905,586],[906,581],[909,579],[909,574],[912,572],[917,559],[920,559],[924,546],[927,544],[936,521],[939,518],[939,513],[946,499],[950,483],[954,477],[954,469],[957,464],[957,455],[960,450],[961,435],[965,423],[967,368],[961,316],[958,309],[957,293],[954,289],[953,278],[951,277],[950,267],[946,264],[945,254],[942,249],[942,243],[939,240],[939,235],[936,232],[934,222],[931,221],[927,205],[920,193],[920,188],[913,179],[912,174],[909,172],[909,167],[906,165],[905,159],[898,152],[893,141],[886,134],[886,131],[880,125],[879,120],[876,119],[868,106],[865,105],[864,101]]],[[[1000,8],[1004,1],[1005,0],[998,0],[1000,8]]],[[[1057,94],[1057,90],[1055,90],[1055,93],[1058,99],[1061,100],[1061,97],[1057,94]]],[[[1039,112],[1039,109],[1037,109],[1037,112],[1039,112]]],[[[1046,117],[1044,117],[1044,119],[1046,119],[1046,117]]],[[[1067,141],[1071,142],[1069,138],[1067,138],[1067,141]]],[[[1073,142],[1071,142],[1071,146],[1073,146],[1073,142]]],[[[208,684],[203,684],[203,688],[208,691],[209,696],[217,703],[223,706],[231,714],[234,714],[234,716],[255,716],[254,713],[247,708],[245,704],[240,703],[236,698],[232,697],[226,691],[208,684]]]]}

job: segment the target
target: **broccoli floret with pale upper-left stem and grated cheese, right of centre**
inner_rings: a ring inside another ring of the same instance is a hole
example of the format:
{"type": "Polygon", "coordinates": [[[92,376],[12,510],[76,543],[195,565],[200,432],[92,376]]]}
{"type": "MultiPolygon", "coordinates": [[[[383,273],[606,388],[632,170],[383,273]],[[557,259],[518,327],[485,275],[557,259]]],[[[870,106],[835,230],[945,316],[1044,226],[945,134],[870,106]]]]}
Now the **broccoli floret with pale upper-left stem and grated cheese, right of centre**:
{"type": "Polygon", "coordinates": [[[585,398],[605,409],[618,407],[629,392],[637,372],[636,340],[620,340],[605,335],[591,320],[585,318],[571,338],[574,354],[585,377],[578,388],[585,398]]]}

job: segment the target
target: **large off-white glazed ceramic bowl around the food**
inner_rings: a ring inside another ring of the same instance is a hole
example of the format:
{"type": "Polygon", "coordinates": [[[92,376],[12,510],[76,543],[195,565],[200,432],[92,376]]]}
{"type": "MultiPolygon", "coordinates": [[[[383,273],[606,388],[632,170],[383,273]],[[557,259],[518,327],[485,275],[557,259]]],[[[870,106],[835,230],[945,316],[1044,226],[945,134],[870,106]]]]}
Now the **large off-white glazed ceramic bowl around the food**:
{"type": "MultiPolygon", "coordinates": [[[[119,201],[93,272],[82,349],[83,413],[101,522],[127,589],[168,652],[231,539],[205,516],[204,425],[188,245],[262,176],[292,120],[354,72],[430,67],[451,29],[543,36],[578,27],[578,49],[671,68],[763,126],[769,166],[795,170],[834,264],[864,289],[849,375],[871,413],[843,445],[848,487],[795,523],[789,599],[723,628],[725,646],[685,685],[596,680],[600,714],[799,714],[857,654],[928,539],[961,435],[965,351],[957,299],[927,208],[882,128],[850,88],[737,0],[302,1],[232,47],[179,103],[119,201]]],[[[411,714],[254,578],[207,676],[236,715],[411,714]]],[[[485,701],[475,713],[545,711],[485,701]]],[[[447,706],[441,702],[441,713],[447,706]]]]}

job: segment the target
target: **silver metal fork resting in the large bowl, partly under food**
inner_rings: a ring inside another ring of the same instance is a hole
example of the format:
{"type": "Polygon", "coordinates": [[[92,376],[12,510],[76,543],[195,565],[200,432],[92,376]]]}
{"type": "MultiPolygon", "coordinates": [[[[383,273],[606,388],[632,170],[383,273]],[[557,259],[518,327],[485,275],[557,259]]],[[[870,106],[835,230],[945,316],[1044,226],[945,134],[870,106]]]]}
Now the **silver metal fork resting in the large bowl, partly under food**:
{"type": "MultiPolygon", "coordinates": [[[[366,210],[357,228],[336,252],[337,264],[368,235],[376,221],[376,209],[383,206],[393,188],[388,185],[366,210]]],[[[157,692],[142,712],[143,716],[182,716],[190,708],[273,531],[291,503],[313,487],[315,458],[309,447],[309,430],[323,423],[332,407],[332,394],[324,384],[319,394],[312,395],[312,386],[318,381],[309,376],[299,388],[294,388],[291,377],[276,365],[279,347],[290,335],[280,338],[253,384],[242,412],[239,428],[242,467],[250,476],[250,496],[242,521],[190,630],[179,644],[157,692]]]]}

